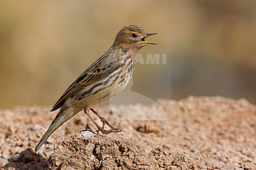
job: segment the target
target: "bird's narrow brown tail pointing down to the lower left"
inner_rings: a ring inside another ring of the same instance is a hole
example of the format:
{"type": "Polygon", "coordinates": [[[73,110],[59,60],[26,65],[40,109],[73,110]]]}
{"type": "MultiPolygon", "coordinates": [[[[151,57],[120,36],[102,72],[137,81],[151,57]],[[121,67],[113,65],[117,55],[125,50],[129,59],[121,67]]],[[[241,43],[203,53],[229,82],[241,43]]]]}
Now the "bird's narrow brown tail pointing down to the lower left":
{"type": "Polygon", "coordinates": [[[80,112],[82,108],[61,108],[59,110],[59,113],[56,115],[54,120],[52,121],[52,124],[48,128],[48,130],[45,132],[43,137],[38,142],[37,146],[35,147],[35,152],[37,152],[41,146],[45,143],[45,141],[48,139],[48,137],[61,126],[63,123],[68,121],[71,117],[76,115],[76,113],[80,112]]]}

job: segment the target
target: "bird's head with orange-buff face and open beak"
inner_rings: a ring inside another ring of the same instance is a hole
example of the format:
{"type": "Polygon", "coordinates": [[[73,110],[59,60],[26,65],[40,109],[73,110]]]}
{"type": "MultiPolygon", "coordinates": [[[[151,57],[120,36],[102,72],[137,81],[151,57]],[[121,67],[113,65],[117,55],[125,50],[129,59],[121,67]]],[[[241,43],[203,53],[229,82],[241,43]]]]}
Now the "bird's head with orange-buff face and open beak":
{"type": "MultiPolygon", "coordinates": [[[[137,25],[130,25],[123,27],[115,37],[113,45],[120,46],[123,49],[134,49],[139,50],[147,44],[155,44],[145,40],[146,37],[155,35],[157,33],[146,33],[144,29],[137,25]]],[[[157,44],[155,44],[157,45],[157,44]]]]}

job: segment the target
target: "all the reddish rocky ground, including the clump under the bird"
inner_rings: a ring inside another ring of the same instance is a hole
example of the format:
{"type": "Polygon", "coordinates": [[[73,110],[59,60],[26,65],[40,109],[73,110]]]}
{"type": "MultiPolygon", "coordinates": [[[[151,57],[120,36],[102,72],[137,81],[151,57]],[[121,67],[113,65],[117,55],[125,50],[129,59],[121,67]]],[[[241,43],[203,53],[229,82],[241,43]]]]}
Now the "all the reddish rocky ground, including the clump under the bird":
{"type": "MultiPolygon", "coordinates": [[[[89,121],[81,112],[54,132],[36,154],[33,148],[57,113],[49,110],[47,106],[0,110],[2,169],[46,170],[49,165],[51,169],[60,165],[63,170],[67,167],[77,169],[80,156],[84,156],[82,163],[88,164],[81,164],[83,169],[90,169],[91,165],[95,169],[136,169],[139,165],[134,160],[148,157],[140,159],[148,169],[256,170],[256,106],[245,99],[188,97],[180,101],[159,99],[151,106],[98,107],[95,108],[98,113],[124,132],[106,135],[88,131],[79,133],[89,121]],[[83,139],[81,135],[85,133],[91,137],[83,139]],[[67,145],[67,141],[72,140],[77,143],[67,145]],[[108,142],[104,143],[104,140],[108,142]],[[123,143],[122,147],[118,141],[123,143]],[[127,141],[131,142],[127,144],[127,141]],[[94,146],[93,150],[90,150],[89,143],[94,146]],[[82,144],[87,150],[73,154],[78,161],[72,161],[76,159],[67,156],[70,147],[79,148],[82,144]],[[108,147],[117,151],[106,151],[108,147]],[[129,154],[136,153],[132,154],[134,157],[127,156],[129,148],[129,154]],[[61,152],[64,149],[67,150],[66,156],[61,152]],[[147,160],[151,161],[147,163],[147,160]],[[63,162],[68,166],[61,164],[63,162]],[[124,165],[124,162],[128,164],[124,165]]],[[[143,168],[147,169],[145,166],[143,168]]]]}

